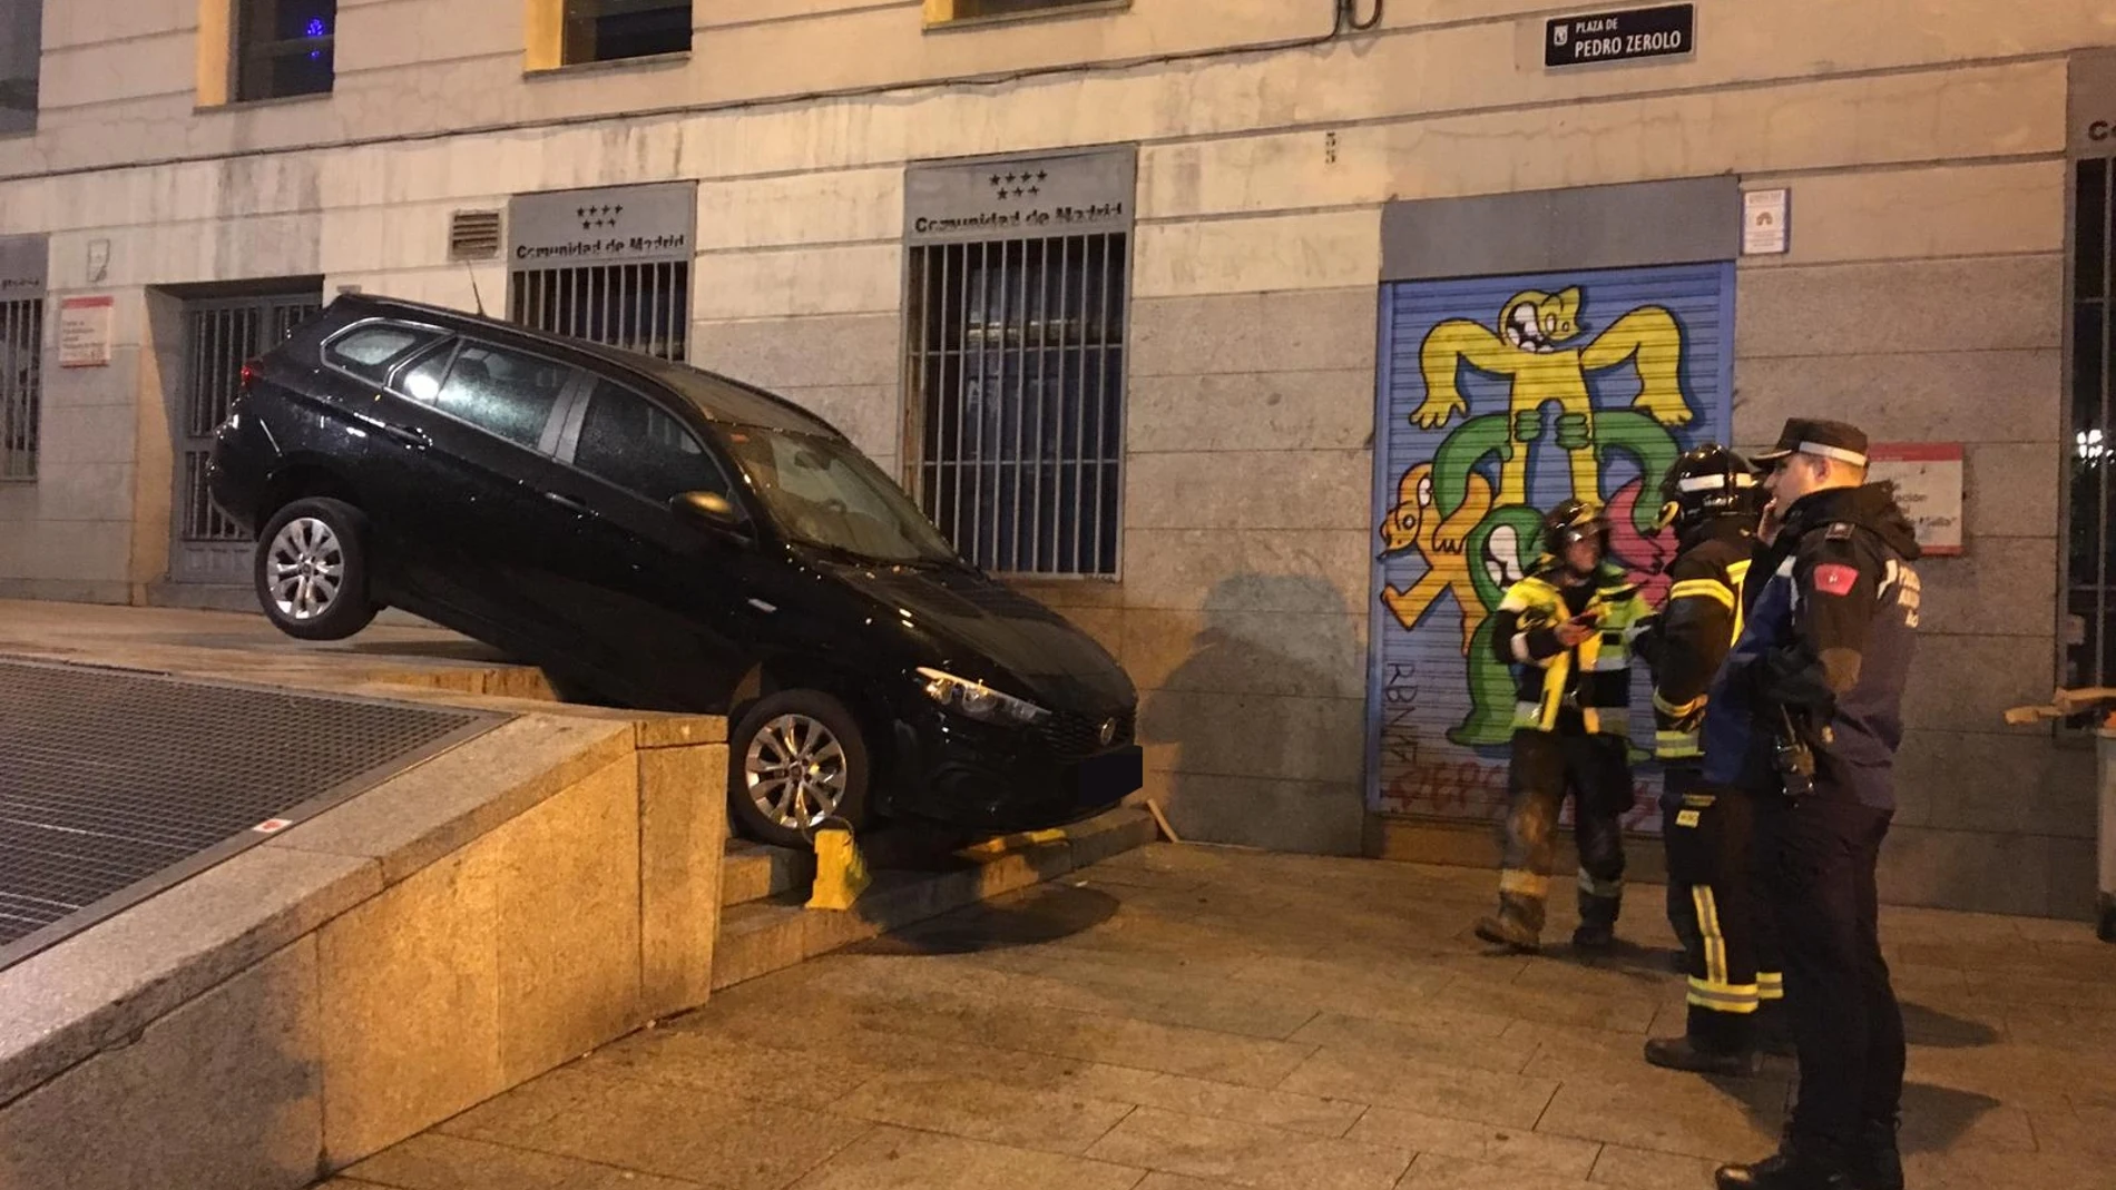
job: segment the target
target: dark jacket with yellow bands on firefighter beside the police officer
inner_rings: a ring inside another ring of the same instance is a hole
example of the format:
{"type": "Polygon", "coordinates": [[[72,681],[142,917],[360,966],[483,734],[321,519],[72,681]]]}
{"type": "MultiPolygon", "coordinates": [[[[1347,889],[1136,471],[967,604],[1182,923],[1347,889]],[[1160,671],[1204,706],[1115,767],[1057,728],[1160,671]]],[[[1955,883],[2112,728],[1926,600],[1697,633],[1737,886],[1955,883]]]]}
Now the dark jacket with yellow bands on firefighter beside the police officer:
{"type": "Polygon", "coordinates": [[[1716,516],[1680,541],[1667,577],[1667,602],[1640,655],[1653,670],[1653,744],[1661,761],[1695,761],[1705,689],[1741,634],[1746,579],[1756,535],[1752,520],[1716,516]]]}

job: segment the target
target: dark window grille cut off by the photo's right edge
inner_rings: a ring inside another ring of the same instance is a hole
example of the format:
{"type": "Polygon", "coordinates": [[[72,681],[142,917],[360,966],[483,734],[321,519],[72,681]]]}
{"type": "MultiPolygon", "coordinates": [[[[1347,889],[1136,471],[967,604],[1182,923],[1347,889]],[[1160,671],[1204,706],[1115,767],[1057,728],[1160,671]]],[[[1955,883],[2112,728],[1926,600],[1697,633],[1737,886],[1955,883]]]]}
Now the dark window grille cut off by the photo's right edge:
{"type": "Polygon", "coordinates": [[[2065,687],[2116,685],[2116,159],[2074,163],[2072,220],[2072,499],[2065,524],[2065,687]]]}

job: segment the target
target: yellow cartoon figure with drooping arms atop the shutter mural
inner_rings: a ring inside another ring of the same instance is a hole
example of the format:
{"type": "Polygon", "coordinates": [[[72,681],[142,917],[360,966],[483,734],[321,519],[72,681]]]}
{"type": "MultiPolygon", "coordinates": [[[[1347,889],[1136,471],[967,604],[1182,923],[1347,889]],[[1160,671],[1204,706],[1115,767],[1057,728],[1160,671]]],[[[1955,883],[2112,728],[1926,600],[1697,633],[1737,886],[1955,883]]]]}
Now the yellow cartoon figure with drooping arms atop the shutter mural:
{"type": "MultiPolygon", "coordinates": [[[[1576,345],[1579,311],[1581,290],[1572,285],[1557,294],[1515,294],[1498,315],[1496,334],[1471,319],[1439,323],[1420,349],[1426,399],[1411,421],[1420,429],[1439,429],[1469,412],[1460,385],[1462,364],[1507,376],[1513,380],[1507,402],[1511,440],[1526,446],[1540,438],[1543,406],[1557,402],[1557,446],[1572,457],[1572,497],[1600,503],[1589,372],[1636,359],[1642,387],[1634,408],[1661,425],[1684,425],[1695,412],[1682,393],[1682,323],[1676,315],[1661,306],[1638,306],[1598,338],[1576,345]]],[[[1511,450],[1500,465],[1498,503],[1528,503],[1528,450],[1511,450]]]]}

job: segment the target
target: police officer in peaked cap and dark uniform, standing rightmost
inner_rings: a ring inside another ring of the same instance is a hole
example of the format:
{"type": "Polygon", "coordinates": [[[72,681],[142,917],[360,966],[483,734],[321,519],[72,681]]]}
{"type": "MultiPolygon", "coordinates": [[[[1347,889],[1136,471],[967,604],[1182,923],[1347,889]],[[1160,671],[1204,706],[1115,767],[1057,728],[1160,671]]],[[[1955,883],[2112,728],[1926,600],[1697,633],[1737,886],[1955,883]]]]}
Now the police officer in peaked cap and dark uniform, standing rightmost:
{"type": "Polygon", "coordinates": [[[1902,1010],[1881,960],[1875,862],[1894,814],[1917,541],[1894,488],[1866,482],[1858,427],[1792,419],[1758,461],[1780,526],[1712,683],[1703,778],[1754,797],[1801,1084],[1780,1152],[1716,1177],[1720,1190],[1896,1190],[1902,1010]]]}

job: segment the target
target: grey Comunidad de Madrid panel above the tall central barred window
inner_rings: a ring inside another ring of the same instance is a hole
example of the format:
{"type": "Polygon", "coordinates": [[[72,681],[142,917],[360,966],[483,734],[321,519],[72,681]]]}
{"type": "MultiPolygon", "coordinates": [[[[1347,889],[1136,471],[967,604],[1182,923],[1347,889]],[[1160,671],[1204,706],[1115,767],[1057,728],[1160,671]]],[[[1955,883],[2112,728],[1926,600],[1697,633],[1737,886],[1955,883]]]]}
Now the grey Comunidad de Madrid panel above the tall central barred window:
{"type": "Polygon", "coordinates": [[[1126,233],[1136,216],[1136,190],[1138,152],[1130,146],[912,165],[904,173],[904,239],[967,243],[1126,233]]]}

